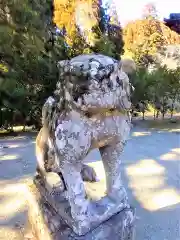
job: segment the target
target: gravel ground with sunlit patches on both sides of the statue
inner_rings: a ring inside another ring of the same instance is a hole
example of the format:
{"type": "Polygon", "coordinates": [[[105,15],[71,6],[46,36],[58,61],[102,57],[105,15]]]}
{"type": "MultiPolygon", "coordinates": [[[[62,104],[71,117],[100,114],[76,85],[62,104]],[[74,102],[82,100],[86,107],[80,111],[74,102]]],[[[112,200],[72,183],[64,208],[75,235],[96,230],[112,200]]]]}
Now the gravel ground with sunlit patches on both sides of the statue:
{"type": "MultiPolygon", "coordinates": [[[[86,159],[104,177],[98,151],[86,159]]],[[[26,184],[35,172],[33,137],[0,140],[0,239],[23,239],[26,184]]],[[[123,180],[136,207],[136,240],[180,240],[180,129],[135,127],[122,154],[123,180]]]]}

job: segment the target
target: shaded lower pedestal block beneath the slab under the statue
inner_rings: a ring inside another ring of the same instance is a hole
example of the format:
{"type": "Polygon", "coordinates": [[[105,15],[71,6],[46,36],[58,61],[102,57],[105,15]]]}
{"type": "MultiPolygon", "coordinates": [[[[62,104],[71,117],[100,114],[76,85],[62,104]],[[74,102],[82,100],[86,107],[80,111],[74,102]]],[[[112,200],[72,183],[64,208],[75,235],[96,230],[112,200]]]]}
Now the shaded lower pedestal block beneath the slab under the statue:
{"type": "Polygon", "coordinates": [[[53,240],[134,239],[134,210],[132,208],[124,209],[84,236],[76,235],[51,206],[44,204],[43,211],[53,240]]]}

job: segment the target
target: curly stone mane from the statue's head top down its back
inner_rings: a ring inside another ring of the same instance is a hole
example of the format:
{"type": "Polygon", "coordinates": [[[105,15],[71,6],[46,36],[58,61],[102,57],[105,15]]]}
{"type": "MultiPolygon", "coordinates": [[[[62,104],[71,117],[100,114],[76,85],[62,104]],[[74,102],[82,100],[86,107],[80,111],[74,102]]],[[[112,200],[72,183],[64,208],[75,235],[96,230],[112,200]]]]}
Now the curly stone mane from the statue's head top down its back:
{"type": "MultiPolygon", "coordinates": [[[[106,80],[107,88],[112,88],[110,76],[115,67],[122,68],[123,61],[101,54],[87,54],[58,62],[59,80],[53,94],[53,101],[48,101],[43,107],[43,122],[50,132],[53,132],[57,120],[75,107],[76,103],[84,105],[84,95],[90,93],[90,84],[94,82],[102,88],[106,80]]],[[[123,87],[123,82],[116,79],[123,87]]],[[[51,97],[52,98],[52,97],[51,97]]]]}

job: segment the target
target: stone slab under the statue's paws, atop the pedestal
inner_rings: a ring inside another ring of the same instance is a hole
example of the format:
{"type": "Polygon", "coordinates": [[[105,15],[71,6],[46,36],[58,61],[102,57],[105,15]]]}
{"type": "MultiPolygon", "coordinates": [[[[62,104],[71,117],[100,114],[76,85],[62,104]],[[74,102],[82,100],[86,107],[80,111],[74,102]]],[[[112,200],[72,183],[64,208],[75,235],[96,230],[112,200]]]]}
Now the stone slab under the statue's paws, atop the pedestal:
{"type": "MultiPolygon", "coordinates": [[[[34,179],[34,183],[40,192],[43,202],[48,203],[51,208],[56,211],[57,215],[59,215],[61,219],[63,219],[66,224],[79,236],[87,234],[91,230],[97,228],[102,222],[107,221],[123,209],[130,207],[127,202],[126,194],[123,190],[118,198],[111,199],[108,196],[103,197],[103,193],[100,194],[95,190],[98,185],[101,186],[101,182],[96,184],[85,184],[87,198],[91,199],[91,201],[88,202],[89,212],[87,212],[83,216],[83,220],[80,221],[78,218],[73,218],[71,215],[71,207],[67,200],[67,191],[58,191],[58,188],[54,188],[56,184],[52,184],[53,178],[50,179],[51,181],[48,181],[48,188],[47,184],[43,186],[41,181],[34,179]],[[92,187],[94,185],[96,185],[96,187],[93,190],[92,187]]],[[[56,179],[54,182],[57,182],[56,179]]]]}

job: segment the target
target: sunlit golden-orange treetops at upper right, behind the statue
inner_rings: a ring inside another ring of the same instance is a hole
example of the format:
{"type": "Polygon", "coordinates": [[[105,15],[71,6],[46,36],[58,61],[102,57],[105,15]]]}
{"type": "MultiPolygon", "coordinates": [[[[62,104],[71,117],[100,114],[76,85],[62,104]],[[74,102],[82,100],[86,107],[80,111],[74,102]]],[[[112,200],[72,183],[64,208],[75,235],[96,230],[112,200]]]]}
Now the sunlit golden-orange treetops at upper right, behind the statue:
{"type": "Polygon", "coordinates": [[[156,19],[136,20],[123,29],[125,54],[134,58],[154,55],[163,46],[180,44],[180,35],[156,19]]]}

